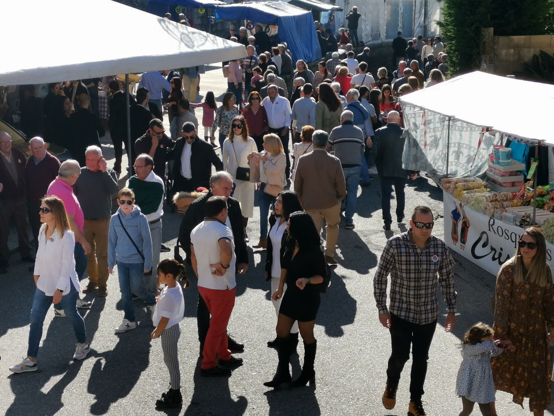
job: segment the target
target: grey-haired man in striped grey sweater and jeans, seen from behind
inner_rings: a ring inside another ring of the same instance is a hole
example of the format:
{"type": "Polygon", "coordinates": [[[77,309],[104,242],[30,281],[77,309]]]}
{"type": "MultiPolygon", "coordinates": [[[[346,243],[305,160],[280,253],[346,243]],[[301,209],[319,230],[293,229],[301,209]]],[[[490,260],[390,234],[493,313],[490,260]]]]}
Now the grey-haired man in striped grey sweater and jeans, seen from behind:
{"type": "Polygon", "coordinates": [[[353,217],[362,168],[361,158],[365,150],[363,131],[354,125],[354,119],[353,112],[345,109],[341,114],[341,125],[332,129],[329,135],[329,147],[335,150],[335,156],[341,161],[345,175],[346,199],[342,201],[341,211],[345,211],[347,230],[354,228],[353,217]]]}

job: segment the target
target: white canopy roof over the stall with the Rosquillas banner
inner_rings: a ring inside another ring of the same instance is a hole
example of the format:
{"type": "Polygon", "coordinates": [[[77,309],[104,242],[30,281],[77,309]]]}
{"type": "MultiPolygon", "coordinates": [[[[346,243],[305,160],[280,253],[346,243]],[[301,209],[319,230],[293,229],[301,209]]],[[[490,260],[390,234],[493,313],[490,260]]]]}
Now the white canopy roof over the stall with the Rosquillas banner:
{"type": "Polygon", "coordinates": [[[554,145],[554,135],[545,125],[554,108],[554,85],[551,84],[475,71],[404,95],[401,102],[521,139],[543,140],[554,145]],[[490,95],[480,97],[485,86],[490,95]],[[540,105],[525,116],[521,114],[521,103],[530,97],[540,105]]]}

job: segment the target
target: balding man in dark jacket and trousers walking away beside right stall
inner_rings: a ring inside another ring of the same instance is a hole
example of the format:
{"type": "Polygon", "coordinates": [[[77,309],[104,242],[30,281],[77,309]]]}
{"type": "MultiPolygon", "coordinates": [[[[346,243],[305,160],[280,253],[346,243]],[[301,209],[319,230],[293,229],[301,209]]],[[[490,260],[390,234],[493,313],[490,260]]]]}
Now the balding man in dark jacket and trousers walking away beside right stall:
{"type": "Polygon", "coordinates": [[[383,230],[391,229],[391,194],[394,185],[396,194],[396,219],[402,222],[404,219],[404,206],[406,196],[404,185],[408,174],[414,174],[402,168],[402,152],[404,150],[404,129],[398,124],[400,114],[398,111],[389,111],[388,124],[375,132],[375,143],[371,151],[377,164],[377,171],[381,179],[381,208],[383,211],[383,230]]]}

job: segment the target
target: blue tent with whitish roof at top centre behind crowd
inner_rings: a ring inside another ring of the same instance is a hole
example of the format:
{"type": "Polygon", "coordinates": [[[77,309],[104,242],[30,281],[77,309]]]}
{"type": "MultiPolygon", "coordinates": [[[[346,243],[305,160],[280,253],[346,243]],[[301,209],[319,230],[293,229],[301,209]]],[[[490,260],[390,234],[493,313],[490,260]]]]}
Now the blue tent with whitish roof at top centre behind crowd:
{"type": "Polygon", "coordinates": [[[214,6],[214,12],[216,19],[249,20],[277,25],[279,39],[286,42],[293,59],[303,59],[306,62],[321,59],[314,18],[309,11],[283,2],[248,2],[214,6]]]}

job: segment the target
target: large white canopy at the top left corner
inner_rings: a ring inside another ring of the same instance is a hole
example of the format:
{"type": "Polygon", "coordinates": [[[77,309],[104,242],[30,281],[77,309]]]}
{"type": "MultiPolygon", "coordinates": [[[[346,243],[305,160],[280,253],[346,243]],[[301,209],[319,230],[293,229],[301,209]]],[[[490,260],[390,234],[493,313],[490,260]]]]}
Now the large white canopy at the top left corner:
{"type": "Polygon", "coordinates": [[[246,56],[242,44],[111,0],[3,1],[0,16],[10,17],[3,19],[3,33],[17,34],[2,44],[0,85],[192,67],[246,56]],[[29,11],[40,19],[24,29],[29,11]],[[67,24],[52,23],[60,22],[60,11],[72,16],[69,32],[67,24]]]}

